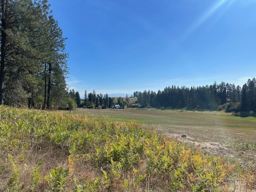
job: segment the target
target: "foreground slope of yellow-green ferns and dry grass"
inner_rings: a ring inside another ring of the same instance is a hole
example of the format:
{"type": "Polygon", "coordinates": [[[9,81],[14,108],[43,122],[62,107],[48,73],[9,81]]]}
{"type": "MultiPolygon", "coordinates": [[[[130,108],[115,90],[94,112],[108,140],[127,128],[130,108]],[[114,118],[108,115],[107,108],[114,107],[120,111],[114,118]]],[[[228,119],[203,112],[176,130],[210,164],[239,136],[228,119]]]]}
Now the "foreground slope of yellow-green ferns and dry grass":
{"type": "MultiPolygon", "coordinates": [[[[0,156],[6,192],[232,191],[228,178],[244,176],[236,163],[133,122],[6,106],[0,156]]],[[[253,185],[250,174],[245,188],[253,185]]]]}

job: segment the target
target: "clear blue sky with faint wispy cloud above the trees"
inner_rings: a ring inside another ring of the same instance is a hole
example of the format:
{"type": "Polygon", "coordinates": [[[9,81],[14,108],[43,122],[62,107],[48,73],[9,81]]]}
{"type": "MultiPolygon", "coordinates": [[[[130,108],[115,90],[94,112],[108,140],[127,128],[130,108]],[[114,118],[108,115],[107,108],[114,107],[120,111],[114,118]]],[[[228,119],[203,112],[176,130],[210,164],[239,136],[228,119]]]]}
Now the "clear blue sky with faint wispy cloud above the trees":
{"type": "Polygon", "coordinates": [[[256,77],[256,0],[48,2],[82,98],[256,77]]]}

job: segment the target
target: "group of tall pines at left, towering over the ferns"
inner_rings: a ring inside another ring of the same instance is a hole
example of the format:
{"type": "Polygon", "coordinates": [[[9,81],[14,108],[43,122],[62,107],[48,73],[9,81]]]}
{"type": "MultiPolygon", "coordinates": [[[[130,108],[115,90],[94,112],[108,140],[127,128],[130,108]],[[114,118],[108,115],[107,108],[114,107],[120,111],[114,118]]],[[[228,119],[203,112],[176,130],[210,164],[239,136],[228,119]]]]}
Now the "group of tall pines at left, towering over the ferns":
{"type": "Polygon", "coordinates": [[[65,40],[47,0],[0,0],[0,103],[69,108],[65,40]]]}

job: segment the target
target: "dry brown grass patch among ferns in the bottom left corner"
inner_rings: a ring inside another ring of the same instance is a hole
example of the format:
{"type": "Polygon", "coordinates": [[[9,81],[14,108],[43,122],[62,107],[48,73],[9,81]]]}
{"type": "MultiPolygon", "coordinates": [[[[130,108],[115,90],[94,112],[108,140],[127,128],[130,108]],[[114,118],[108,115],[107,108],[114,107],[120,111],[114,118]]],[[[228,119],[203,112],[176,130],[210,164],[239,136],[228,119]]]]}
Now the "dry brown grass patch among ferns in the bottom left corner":
{"type": "MultiPolygon", "coordinates": [[[[30,151],[24,150],[23,152],[16,149],[12,151],[5,151],[8,152],[8,154],[11,154],[16,159],[16,165],[19,168],[19,178],[20,182],[23,184],[24,191],[30,190],[30,182],[32,179],[32,171],[34,168],[36,168],[38,162],[42,162],[42,166],[40,166],[40,175],[42,177],[49,174],[49,171],[52,169],[52,167],[66,167],[68,168],[67,160],[66,160],[66,154],[67,151],[60,148],[55,148],[54,146],[49,146],[46,142],[40,143],[37,147],[36,146],[30,146],[30,151]],[[23,154],[19,158],[19,154],[23,154]],[[31,155],[32,154],[32,155],[31,155]]],[[[7,154],[1,154],[2,156],[8,156],[7,154]]],[[[7,159],[0,158],[0,164],[6,163],[7,159]]],[[[3,172],[5,174],[0,174],[0,191],[5,191],[6,186],[8,184],[8,181],[10,180],[10,176],[13,174],[13,170],[9,167],[4,167],[3,172]]],[[[38,184],[38,188],[36,191],[44,191],[46,189],[47,183],[42,180],[38,184]]]]}

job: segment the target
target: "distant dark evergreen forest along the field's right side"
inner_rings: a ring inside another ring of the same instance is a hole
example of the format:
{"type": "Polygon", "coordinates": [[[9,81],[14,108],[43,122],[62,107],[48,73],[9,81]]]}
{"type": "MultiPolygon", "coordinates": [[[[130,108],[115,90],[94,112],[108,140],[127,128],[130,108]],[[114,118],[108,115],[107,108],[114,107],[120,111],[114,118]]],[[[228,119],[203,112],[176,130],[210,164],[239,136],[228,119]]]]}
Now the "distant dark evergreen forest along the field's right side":
{"type": "Polygon", "coordinates": [[[242,86],[221,82],[208,86],[168,86],[158,92],[134,92],[142,108],[198,108],[225,109],[227,112],[256,112],[256,80],[248,80],[242,86]]]}

